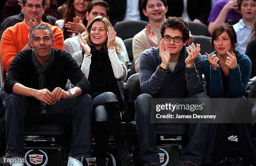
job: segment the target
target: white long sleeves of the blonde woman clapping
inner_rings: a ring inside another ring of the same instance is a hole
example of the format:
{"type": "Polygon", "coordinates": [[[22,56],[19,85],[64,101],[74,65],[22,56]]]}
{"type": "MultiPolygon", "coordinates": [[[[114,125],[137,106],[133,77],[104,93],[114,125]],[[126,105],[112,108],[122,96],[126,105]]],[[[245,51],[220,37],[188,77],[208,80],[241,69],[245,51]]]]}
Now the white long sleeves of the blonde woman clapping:
{"type": "MultiPolygon", "coordinates": [[[[127,70],[124,65],[125,57],[122,54],[117,54],[115,52],[115,47],[113,50],[108,49],[108,56],[115,78],[118,79],[118,81],[124,80],[127,76],[127,70]]],[[[81,65],[82,72],[88,78],[90,72],[91,56],[84,55],[83,59],[82,57],[82,51],[75,52],[73,54],[73,58],[77,61],[78,65],[81,65]]]]}

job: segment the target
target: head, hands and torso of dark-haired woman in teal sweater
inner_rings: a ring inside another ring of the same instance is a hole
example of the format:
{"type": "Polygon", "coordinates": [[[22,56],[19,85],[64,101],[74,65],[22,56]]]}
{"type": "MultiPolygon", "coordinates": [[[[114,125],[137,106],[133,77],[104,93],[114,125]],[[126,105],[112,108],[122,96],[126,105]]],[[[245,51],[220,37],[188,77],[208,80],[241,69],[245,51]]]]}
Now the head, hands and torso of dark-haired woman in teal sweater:
{"type": "Polygon", "coordinates": [[[251,73],[251,60],[235,50],[236,32],[221,24],[212,34],[215,51],[203,59],[206,94],[212,98],[244,97],[251,73]]]}

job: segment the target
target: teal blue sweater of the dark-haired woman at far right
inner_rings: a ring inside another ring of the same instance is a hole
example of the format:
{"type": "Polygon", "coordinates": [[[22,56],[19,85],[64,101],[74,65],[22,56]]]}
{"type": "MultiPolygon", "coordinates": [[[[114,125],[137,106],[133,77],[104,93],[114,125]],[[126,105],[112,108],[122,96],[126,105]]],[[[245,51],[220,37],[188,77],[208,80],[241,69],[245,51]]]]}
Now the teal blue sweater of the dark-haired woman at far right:
{"type": "Polygon", "coordinates": [[[251,73],[251,60],[247,55],[238,51],[235,51],[235,55],[237,67],[228,69],[228,77],[225,77],[221,67],[216,70],[212,69],[207,57],[204,57],[203,73],[206,80],[206,94],[209,97],[237,98],[244,97],[246,94],[246,87],[251,73]]]}

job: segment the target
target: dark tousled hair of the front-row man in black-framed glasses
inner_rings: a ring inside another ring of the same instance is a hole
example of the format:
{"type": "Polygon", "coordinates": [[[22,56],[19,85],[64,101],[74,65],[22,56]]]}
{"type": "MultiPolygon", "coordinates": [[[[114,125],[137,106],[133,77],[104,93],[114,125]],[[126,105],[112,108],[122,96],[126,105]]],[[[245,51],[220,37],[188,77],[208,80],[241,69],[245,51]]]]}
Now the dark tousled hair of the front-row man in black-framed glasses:
{"type": "Polygon", "coordinates": [[[182,17],[168,17],[161,24],[161,36],[164,37],[166,28],[178,29],[182,32],[183,42],[189,39],[189,25],[182,17]]]}

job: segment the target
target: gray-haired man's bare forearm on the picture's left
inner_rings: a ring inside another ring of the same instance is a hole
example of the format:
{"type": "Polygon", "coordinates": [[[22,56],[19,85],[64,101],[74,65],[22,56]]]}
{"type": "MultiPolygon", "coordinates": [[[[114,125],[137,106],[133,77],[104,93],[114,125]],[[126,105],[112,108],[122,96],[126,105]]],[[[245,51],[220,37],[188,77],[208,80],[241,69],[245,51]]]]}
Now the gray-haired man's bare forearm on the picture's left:
{"type": "Polygon", "coordinates": [[[13,85],[13,93],[19,94],[21,96],[33,97],[36,91],[36,89],[25,87],[23,84],[20,83],[15,83],[13,85]]]}

